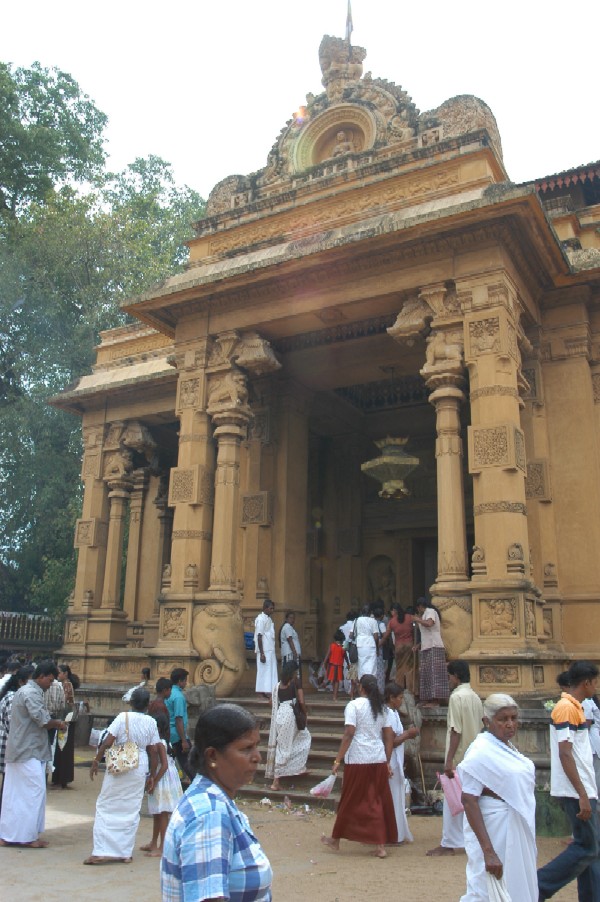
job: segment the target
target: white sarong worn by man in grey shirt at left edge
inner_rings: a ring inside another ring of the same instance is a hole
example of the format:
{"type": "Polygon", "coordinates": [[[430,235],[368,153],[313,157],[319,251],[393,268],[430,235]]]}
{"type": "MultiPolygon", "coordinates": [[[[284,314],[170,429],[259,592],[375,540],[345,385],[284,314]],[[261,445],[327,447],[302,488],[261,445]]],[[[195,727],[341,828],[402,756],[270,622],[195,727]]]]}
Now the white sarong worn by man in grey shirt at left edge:
{"type": "Polygon", "coordinates": [[[7,762],[2,793],[0,839],[35,842],[44,832],[46,818],[46,762],[28,758],[7,762]]]}

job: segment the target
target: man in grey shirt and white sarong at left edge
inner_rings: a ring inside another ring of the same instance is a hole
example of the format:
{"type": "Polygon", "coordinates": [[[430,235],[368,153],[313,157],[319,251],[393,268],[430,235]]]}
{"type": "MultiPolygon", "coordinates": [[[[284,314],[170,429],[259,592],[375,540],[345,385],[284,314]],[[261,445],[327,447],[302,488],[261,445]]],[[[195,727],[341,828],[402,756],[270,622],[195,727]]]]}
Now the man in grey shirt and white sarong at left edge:
{"type": "Polygon", "coordinates": [[[39,838],[45,826],[46,762],[51,757],[48,731],[68,729],[64,721],[50,717],[44,704],[44,692],[57,676],[53,661],[38,664],[13,699],[0,816],[2,846],[48,845],[39,838]]]}

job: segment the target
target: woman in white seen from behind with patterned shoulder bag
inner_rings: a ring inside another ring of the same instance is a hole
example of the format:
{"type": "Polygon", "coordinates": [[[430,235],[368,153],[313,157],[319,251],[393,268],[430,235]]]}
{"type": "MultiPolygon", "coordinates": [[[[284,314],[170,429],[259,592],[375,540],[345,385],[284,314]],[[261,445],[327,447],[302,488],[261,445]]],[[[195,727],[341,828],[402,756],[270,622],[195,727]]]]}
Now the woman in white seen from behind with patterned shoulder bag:
{"type": "Polygon", "coordinates": [[[144,713],[149,701],[147,689],[134,689],[130,699],[131,712],[118,714],[113,720],[90,766],[90,779],[93,780],[104,752],[113,743],[129,739],[138,747],[137,767],[122,774],[104,775],[96,801],[94,848],[84,864],[129,864],[131,861],[144,789],[152,792],[153,774],[158,770],[156,746],[160,743],[160,737],[156,721],[144,713]]]}

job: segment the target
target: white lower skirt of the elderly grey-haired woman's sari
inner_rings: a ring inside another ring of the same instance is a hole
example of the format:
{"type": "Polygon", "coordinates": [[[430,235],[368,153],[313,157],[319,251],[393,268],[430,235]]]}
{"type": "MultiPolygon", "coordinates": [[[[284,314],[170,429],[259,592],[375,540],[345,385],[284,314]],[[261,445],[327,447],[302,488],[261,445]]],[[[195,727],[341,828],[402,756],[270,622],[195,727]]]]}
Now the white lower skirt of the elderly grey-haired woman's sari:
{"type": "MultiPolygon", "coordinates": [[[[496,855],[504,866],[506,889],[513,902],[538,902],[535,840],[520,814],[506,802],[489,796],[479,808],[496,855]]],[[[489,902],[483,852],[467,818],[464,820],[467,852],[467,892],[460,902],[489,902]]]]}

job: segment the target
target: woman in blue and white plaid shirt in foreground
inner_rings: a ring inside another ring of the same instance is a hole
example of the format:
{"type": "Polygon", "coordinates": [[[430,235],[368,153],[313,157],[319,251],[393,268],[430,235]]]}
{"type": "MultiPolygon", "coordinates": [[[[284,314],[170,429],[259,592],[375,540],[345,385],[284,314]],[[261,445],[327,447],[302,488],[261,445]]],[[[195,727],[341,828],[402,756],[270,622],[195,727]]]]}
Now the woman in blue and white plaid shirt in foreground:
{"type": "Polygon", "coordinates": [[[161,862],[163,902],[271,902],[272,870],[234,798],[260,763],[256,719],[239,705],[198,718],[197,771],[173,812],[161,862]]]}

